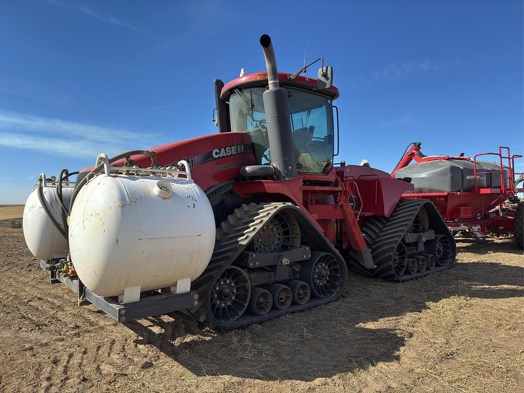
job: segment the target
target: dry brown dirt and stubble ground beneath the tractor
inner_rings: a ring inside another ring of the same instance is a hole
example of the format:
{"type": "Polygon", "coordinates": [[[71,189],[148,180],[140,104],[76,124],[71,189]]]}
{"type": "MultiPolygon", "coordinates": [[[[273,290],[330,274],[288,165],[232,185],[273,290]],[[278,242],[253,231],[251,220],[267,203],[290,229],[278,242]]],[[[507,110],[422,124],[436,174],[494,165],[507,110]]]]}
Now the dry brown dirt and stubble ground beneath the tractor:
{"type": "Polygon", "coordinates": [[[242,330],[172,313],[118,324],[49,285],[0,227],[0,390],[524,391],[523,258],[462,240],[456,266],[402,284],[352,275],[339,301],[242,330]]]}

